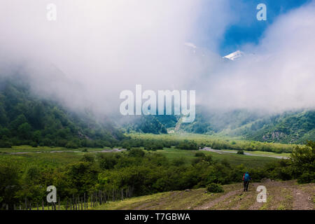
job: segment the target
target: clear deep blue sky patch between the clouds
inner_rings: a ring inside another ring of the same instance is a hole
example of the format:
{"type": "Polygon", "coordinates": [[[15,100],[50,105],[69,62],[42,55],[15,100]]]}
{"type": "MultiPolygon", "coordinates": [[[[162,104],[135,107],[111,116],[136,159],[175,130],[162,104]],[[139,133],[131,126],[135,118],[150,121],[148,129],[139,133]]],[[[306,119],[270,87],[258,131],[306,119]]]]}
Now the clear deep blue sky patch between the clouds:
{"type": "Polygon", "coordinates": [[[219,53],[228,55],[230,52],[239,50],[246,43],[257,44],[265,29],[274,20],[289,10],[298,8],[311,0],[231,0],[230,8],[236,15],[235,24],[228,26],[221,39],[219,53]],[[256,19],[256,6],[265,3],[267,6],[267,21],[256,19]]]}

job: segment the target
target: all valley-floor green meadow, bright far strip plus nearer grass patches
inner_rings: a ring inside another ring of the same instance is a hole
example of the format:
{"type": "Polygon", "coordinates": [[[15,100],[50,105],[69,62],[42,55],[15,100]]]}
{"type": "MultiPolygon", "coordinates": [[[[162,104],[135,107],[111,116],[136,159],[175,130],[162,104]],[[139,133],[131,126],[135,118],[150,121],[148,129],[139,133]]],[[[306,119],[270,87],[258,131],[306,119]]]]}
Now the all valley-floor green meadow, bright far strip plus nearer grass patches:
{"type": "MultiPolygon", "coordinates": [[[[235,144],[248,144],[248,141],[237,140],[237,139],[215,139],[209,135],[203,134],[130,134],[132,139],[154,139],[154,140],[174,140],[174,139],[188,139],[196,141],[198,144],[207,141],[225,141],[231,142],[234,141],[235,144]]],[[[249,142],[251,144],[260,144],[258,142],[249,142]]],[[[286,144],[272,144],[275,147],[286,147],[290,148],[292,145],[286,144]]],[[[141,147],[144,149],[144,147],[141,147]]],[[[104,148],[63,148],[63,147],[48,147],[48,146],[13,146],[12,148],[0,148],[0,162],[8,162],[11,164],[16,164],[23,167],[28,167],[29,165],[38,165],[38,166],[51,166],[59,167],[62,165],[67,165],[72,162],[78,162],[83,155],[93,155],[96,157],[97,152],[111,150],[109,147],[104,148]],[[83,152],[87,150],[87,152],[83,152]],[[10,154],[13,153],[13,154],[10,154]]],[[[170,160],[183,160],[186,164],[191,164],[195,159],[195,153],[197,151],[187,151],[180,150],[177,148],[164,148],[163,150],[158,151],[146,151],[146,153],[160,153],[165,155],[166,158],[170,160]]],[[[279,160],[277,158],[272,158],[272,156],[285,156],[289,157],[290,153],[274,153],[266,151],[244,151],[245,153],[251,153],[252,155],[258,156],[249,156],[249,155],[237,155],[235,150],[224,149],[222,151],[230,153],[214,153],[209,151],[202,151],[205,155],[211,155],[214,160],[225,160],[232,165],[245,165],[246,167],[262,167],[267,162],[272,162],[279,160]]],[[[125,152],[124,152],[125,153],[125,152]]]]}

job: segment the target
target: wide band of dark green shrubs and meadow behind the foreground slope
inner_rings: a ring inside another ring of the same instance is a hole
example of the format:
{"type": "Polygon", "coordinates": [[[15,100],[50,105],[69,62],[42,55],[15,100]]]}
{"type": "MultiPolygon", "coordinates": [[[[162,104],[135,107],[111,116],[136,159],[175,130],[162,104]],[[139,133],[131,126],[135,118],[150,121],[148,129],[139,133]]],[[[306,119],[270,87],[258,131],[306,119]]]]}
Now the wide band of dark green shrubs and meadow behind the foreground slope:
{"type": "Polygon", "coordinates": [[[265,178],[315,182],[314,142],[295,148],[290,160],[247,155],[232,155],[228,160],[229,155],[216,155],[197,151],[187,161],[185,156],[174,158],[172,151],[146,153],[140,148],[118,153],[3,153],[0,154],[0,203],[9,207],[22,204],[25,199],[41,203],[46,195],[45,186],[50,185],[58,189],[63,203],[73,195],[90,195],[99,190],[111,193],[131,188],[134,196],[141,196],[206,188],[211,184],[220,188],[239,183],[244,172],[249,172],[255,182],[265,178]]]}

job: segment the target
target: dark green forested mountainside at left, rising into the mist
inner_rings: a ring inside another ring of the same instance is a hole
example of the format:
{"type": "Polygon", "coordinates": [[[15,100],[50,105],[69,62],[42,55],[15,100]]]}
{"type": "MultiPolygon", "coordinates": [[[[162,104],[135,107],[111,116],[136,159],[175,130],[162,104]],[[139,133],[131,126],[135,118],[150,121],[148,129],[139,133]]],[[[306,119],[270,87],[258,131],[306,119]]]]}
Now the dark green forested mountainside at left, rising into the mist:
{"type": "Polygon", "coordinates": [[[0,147],[104,147],[124,138],[110,122],[94,120],[91,112],[70,112],[35,96],[23,80],[0,83],[0,147]]]}

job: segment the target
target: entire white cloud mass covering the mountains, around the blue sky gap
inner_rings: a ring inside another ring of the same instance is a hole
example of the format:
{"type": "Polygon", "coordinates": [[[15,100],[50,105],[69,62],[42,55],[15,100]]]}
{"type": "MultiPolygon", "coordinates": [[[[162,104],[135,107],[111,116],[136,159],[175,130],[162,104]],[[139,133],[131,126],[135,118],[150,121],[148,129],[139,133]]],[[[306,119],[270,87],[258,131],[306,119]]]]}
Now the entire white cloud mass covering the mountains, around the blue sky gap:
{"type": "Polygon", "coordinates": [[[232,1],[1,1],[1,75],[31,77],[38,94],[76,108],[119,113],[119,94],[196,90],[217,109],[315,106],[314,1],[281,15],[245,57],[227,62],[220,40],[232,1]],[[46,19],[48,3],[57,21],[46,19]],[[206,48],[200,45],[207,43],[206,48]]]}

